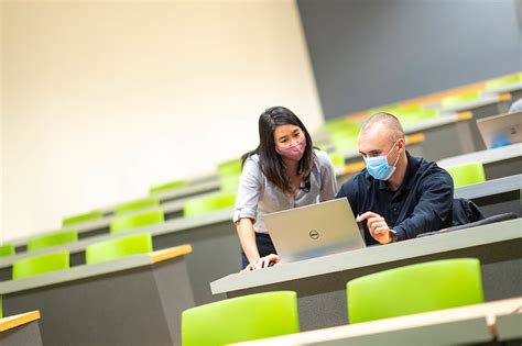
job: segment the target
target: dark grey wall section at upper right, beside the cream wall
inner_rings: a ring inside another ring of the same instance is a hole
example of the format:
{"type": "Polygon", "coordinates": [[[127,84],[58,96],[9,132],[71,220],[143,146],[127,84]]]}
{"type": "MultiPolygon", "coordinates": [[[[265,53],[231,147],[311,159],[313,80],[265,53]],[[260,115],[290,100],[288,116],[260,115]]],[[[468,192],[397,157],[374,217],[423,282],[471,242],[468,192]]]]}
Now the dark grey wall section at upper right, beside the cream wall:
{"type": "Polygon", "coordinates": [[[515,0],[297,4],[327,119],[522,70],[515,0]]]}

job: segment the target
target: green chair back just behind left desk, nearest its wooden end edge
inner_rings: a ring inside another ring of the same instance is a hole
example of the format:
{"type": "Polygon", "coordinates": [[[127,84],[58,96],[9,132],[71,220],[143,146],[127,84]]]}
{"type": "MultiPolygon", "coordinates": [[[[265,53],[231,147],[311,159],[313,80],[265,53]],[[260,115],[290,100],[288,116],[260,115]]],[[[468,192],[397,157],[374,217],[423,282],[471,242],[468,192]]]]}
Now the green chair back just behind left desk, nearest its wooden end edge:
{"type": "Polygon", "coordinates": [[[148,254],[151,252],[151,234],[140,233],[89,245],[85,249],[85,260],[87,264],[97,264],[124,256],[148,254]]]}

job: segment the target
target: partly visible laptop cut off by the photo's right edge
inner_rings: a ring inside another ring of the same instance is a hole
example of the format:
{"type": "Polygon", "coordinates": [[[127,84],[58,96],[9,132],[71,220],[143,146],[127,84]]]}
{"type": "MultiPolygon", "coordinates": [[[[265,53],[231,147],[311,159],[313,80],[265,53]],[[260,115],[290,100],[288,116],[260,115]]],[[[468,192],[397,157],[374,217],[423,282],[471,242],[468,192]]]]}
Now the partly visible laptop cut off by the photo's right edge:
{"type": "Polygon", "coordinates": [[[488,149],[522,142],[522,112],[479,119],[477,126],[488,149]]]}

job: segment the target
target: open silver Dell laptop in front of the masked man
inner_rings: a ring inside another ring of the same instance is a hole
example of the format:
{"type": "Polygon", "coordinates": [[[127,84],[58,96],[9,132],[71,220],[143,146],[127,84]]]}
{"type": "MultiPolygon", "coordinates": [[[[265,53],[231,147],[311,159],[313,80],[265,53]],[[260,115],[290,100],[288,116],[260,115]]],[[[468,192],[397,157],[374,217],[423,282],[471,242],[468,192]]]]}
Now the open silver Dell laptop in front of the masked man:
{"type": "Polygon", "coordinates": [[[366,246],[346,198],[265,214],[264,224],[283,263],[366,246]]]}

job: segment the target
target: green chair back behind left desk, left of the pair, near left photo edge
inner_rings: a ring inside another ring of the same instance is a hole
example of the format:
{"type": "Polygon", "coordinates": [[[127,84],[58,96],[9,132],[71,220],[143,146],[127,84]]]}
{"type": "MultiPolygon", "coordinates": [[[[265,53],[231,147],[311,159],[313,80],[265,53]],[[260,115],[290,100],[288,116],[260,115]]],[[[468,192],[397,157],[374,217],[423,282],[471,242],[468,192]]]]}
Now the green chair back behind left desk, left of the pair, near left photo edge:
{"type": "Polygon", "coordinates": [[[56,252],[13,263],[13,280],[69,268],[69,253],[56,252]]]}

